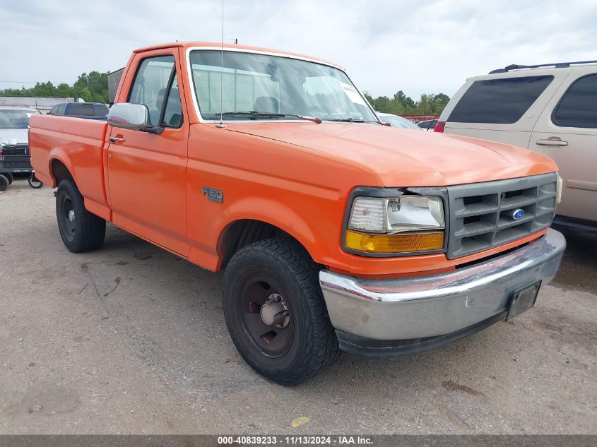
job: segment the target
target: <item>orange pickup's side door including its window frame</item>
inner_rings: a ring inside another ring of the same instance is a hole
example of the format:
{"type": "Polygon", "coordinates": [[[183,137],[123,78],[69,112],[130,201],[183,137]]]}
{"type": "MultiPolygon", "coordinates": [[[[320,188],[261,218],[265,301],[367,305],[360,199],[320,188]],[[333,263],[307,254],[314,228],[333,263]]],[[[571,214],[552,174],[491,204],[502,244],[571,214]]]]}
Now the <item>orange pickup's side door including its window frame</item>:
{"type": "Polygon", "coordinates": [[[182,256],[187,239],[188,119],[175,55],[138,60],[128,102],[148,107],[149,133],[109,126],[107,176],[114,223],[182,256]]]}

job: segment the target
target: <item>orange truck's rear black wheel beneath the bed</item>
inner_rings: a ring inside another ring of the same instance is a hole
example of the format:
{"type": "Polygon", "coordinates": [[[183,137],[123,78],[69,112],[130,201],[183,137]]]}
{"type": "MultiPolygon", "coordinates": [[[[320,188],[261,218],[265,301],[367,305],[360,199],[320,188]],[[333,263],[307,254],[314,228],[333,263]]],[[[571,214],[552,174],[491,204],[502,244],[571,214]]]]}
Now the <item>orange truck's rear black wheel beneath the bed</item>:
{"type": "Polygon", "coordinates": [[[104,243],[106,221],[85,209],[83,196],[72,179],[58,185],[56,217],[60,236],[73,253],[99,249],[104,243]]]}

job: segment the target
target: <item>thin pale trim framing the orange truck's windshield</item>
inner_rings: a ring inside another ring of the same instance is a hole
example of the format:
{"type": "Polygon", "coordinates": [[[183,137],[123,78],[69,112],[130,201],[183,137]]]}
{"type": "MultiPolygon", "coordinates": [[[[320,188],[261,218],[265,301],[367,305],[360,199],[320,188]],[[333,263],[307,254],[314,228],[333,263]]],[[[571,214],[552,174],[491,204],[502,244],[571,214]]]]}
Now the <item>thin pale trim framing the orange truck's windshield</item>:
{"type": "MultiPolygon", "coordinates": [[[[214,45],[213,47],[211,46],[202,46],[202,47],[188,47],[186,54],[185,54],[185,59],[187,61],[187,81],[189,81],[189,87],[191,90],[191,97],[193,100],[193,106],[195,108],[195,113],[197,115],[197,119],[199,119],[199,122],[201,124],[214,124],[214,123],[219,123],[220,120],[219,119],[203,119],[203,116],[201,115],[201,109],[199,108],[199,101],[197,100],[197,95],[195,93],[195,88],[194,88],[194,81],[193,81],[193,73],[192,73],[192,67],[191,67],[191,51],[195,51],[197,49],[208,49],[208,50],[216,50],[216,51],[220,51],[221,47],[219,45],[214,45]]],[[[337,68],[338,70],[342,71],[346,77],[348,78],[348,81],[350,81],[350,83],[353,85],[353,87],[355,88],[355,90],[357,90],[357,92],[359,93],[359,95],[361,95],[362,99],[365,101],[365,103],[367,104],[367,106],[369,106],[371,112],[374,114],[375,117],[377,117],[377,114],[375,113],[375,110],[373,109],[373,107],[371,107],[369,101],[367,101],[367,98],[365,98],[365,96],[361,93],[361,91],[357,88],[357,86],[355,85],[355,83],[353,83],[353,80],[350,79],[350,76],[348,76],[348,73],[345,71],[344,68],[342,68],[339,65],[336,64],[332,64],[331,62],[326,62],[326,61],[320,61],[318,59],[311,59],[309,57],[302,57],[302,56],[295,56],[294,54],[288,54],[288,53],[276,53],[276,52],[265,52],[265,51],[261,51],[258,49],[247,49],[247,48],[232,48],[232,47],[224,47],[224,51],[225,52],[237,52],[237,53],[252,53],[252,54],[264,54],[266,56],[278,56],[278,57],[286,57],[288,59],[297,59],[299,61],[307,61],[307,62],[313,62],[314,64],[319,64],[319,65],[326,65],[326,66],[331,66],[333,68],[337,68]]],[[[379,119],[379,117],[377,117],[379,119]]],[[[380,120],[381,121],[381,120],[380,120]]],[[[254,119],[235,119],[234,121],[227,121],[228,123],[261,123],[264,121],[256,121],[254,119]]],[[[297,122],[304,122],[303,120],[300,119],[277,119],[276,121],[267,121],[268,123],[297,123],[297,122]]]]}

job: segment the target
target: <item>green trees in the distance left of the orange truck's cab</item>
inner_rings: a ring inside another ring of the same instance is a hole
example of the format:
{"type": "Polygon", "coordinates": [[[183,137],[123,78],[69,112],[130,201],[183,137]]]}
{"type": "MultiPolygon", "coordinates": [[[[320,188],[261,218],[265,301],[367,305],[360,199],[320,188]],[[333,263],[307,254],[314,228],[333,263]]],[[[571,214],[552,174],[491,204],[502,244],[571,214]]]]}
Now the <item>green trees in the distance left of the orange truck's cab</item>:
{"type": "Polygon", "coordinates": [[[6,88],[0,96],[42,96],[42,97],[82,97],[86,102],[108,102],[108,73],[91,71],[83,73],[73,85],[51,82],[36,83],[35,87],[6,88]]]}

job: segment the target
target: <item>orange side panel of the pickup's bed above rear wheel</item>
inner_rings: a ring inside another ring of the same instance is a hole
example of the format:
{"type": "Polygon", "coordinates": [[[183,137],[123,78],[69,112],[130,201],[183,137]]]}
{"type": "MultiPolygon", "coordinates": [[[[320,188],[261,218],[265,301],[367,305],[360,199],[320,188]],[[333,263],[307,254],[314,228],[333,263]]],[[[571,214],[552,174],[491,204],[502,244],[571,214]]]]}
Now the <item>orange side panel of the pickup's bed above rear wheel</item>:
{"type": "Polygon", "coordinates": [[[111,220],[104,181],[107,121],[33,115],[29,126],[31,165],[35,176],[48,186],[56,187],[52,169],[61,162],[69,167],[85,197],[85,208],[111,220]]]}

